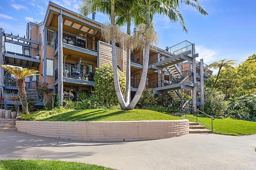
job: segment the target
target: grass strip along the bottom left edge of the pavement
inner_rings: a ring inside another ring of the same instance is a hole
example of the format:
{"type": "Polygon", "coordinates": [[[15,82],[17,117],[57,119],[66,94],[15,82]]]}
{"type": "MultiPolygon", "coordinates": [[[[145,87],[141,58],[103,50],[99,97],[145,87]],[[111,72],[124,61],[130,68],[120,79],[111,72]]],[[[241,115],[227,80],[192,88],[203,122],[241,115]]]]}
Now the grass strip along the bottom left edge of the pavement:
{"type": "Polygon", "coordinates": [[[0,170],[114,170],[92,164],[56,160],[0,160],[0,170]]]}

